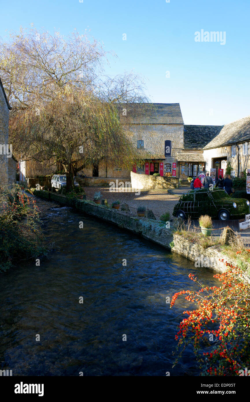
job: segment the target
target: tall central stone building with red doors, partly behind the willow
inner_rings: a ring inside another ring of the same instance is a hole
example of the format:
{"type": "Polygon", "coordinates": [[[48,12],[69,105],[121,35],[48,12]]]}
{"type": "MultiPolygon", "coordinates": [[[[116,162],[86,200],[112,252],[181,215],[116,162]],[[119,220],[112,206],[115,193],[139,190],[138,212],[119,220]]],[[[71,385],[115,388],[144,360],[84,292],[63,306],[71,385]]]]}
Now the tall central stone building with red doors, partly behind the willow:
{"type": "Polygon", "coordinates": [[[132,104],[127,106],[126,114],[129,118],[127,135],[137,149],[137,164],[128,169],[100,163],[98,166],[84,168],[84,174],[88,177],[129,179],[133,170],[138,174],[159,173],[163,176],[168,172],[170,176],[176,176],[177,153],[183,149],[180,104],[132,104]]]}

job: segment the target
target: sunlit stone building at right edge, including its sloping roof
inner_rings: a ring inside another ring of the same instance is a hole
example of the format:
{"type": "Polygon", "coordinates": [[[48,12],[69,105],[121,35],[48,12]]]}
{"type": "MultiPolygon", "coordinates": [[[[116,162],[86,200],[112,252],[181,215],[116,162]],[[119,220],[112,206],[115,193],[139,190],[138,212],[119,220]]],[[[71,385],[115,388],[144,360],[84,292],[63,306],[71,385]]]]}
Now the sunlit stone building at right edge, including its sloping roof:
{"type": "Polygon", "coordinates": [[[206,170],[215,168],[224,169],[227,162],[232,165],[231,176],[240,177],[246,169],[250,168],[250,116],[225,124],[219,133],[203,148],[206,161],[206,170]]]}

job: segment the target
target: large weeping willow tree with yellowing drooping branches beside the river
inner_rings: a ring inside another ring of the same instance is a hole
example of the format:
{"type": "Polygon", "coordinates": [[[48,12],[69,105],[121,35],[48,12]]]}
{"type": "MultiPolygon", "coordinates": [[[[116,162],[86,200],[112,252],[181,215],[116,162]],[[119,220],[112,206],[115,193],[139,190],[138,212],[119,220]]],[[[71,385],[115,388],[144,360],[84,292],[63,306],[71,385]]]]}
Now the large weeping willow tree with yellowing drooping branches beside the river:
{"type": "Polygon", "coordinates": [[[104,161],[131,167],[136,159],[121,105],[143,103],[133,73],[103,74],[105,52],[94,38],[35,28],[0,44],[0,75],[12,106],[10,141],[23,160],[57,164],[67,188],[84,166],[104,161]]]}

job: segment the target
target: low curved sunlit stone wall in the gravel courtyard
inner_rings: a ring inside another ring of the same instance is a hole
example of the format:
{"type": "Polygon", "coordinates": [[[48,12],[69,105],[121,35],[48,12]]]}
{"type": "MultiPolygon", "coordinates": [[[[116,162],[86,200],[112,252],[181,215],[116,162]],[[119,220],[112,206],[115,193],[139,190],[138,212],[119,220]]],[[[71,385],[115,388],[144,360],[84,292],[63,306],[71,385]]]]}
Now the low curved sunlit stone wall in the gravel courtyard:
{"type": "Polygon", "coordinates": [[[178,178],[153,176],[130,172],[131,186],[135,189],[174,189],[178,187],[178,178]]]}

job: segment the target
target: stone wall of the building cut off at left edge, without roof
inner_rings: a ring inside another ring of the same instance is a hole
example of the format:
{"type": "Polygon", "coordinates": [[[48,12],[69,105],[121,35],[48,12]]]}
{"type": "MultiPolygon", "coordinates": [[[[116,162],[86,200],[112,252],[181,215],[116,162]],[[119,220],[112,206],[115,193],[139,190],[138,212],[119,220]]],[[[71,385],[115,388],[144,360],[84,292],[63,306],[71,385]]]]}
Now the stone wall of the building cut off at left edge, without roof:
{"type": "MultiPolygon", "coordinates": [[[[4,92],[0,86],[0,145],[8,144],[9,109],[4,98],[4,92]]],[[[8,148],[8,147],[7,147],[8,148]]],[[[8,152],[8,150],[7,150],[8,152]]],[[[0,185],[8,186],[9,160],[6,154],[0,153],[0,185]]]]}

